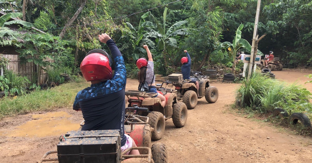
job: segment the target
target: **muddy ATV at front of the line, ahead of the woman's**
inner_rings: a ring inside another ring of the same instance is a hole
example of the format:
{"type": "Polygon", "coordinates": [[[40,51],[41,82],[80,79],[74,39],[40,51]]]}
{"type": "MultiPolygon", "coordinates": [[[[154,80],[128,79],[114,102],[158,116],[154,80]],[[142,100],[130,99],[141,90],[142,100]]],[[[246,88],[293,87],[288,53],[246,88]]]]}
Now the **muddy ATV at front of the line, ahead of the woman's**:
{"type": "Polygon", "coordinates": [[[177,100],[183,100],[188,109],[194,109],[197,105],[197,99],[202,97],[205,97],[209,103],[215,103],[218,100],[219,92],[216,87],[210,85],[209,77],[198,74],[195,77],[199,84],[199,90],[194,83],[189,83],[191,79],[185,79],[182,82],[173,82],[169,79],[164,83],[169,88],[175,86],[177,100]]]}

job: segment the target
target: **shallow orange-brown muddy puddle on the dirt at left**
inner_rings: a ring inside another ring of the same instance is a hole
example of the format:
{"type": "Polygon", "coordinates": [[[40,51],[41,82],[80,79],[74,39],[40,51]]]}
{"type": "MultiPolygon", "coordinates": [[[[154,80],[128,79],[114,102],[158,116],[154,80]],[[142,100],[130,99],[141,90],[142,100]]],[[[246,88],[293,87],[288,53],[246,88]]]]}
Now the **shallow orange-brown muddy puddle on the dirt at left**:
{"type": "Polygon", "coordinates": [[[34,114],[32,120],[15,129],[5,131],[2,135],[10,137],[46,137],[59,136],[71,130],[79,129],[79,123],[71,123],[65,111],[34,114]]]}

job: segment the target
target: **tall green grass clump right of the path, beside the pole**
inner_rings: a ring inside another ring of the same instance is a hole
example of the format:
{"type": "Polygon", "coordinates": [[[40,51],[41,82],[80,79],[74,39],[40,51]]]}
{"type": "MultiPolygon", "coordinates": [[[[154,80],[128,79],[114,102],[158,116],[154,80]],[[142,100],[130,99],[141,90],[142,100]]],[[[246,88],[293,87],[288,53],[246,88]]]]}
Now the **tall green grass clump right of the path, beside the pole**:
{"type": "Polygon", "coordinates": [[[312,114],[312,104],[309,102],[311,95],[302,85],[287,84],[261,73],[254,73],[249,82],[244,79],[236,90],[236,105],[256,106],[261,112],[271,112],[276,107],[282,107],[289,113],[312,114]]]}

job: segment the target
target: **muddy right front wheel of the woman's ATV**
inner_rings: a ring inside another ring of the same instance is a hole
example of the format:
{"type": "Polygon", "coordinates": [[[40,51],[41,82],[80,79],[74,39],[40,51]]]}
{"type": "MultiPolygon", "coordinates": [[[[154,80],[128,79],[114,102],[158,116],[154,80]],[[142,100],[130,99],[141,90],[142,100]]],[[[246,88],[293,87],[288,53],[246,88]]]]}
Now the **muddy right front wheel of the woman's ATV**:
{"type": "Polygon", "coordinates": [[[188,108],[183,102],[174,104],[172,121],[176,127],[183,127],[188,120],[188,108]]]}

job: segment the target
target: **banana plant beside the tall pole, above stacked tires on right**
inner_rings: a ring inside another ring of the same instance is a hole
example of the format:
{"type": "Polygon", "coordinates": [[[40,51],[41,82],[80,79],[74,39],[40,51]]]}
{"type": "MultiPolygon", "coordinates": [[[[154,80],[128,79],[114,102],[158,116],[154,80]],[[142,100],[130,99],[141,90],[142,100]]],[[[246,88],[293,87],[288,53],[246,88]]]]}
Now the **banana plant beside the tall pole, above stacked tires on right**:
{"type": "MultiPolygon", "coordinates": [[[[251,52],[251,45],[250,43],[248,43],[247,40],[241,38],[241,30],[243,29],[244,25],[241,24],[238,26],[237,30],[236,30],[236,35],[233,39],[233,43],[230,42],[223,42],[221,43],[217,49],[215,49],[211,55],[216,54],[217,52],[223,51],[225,50],[225,54],[228,54],[230,57],[233,58],[233,63],[235,63],[235,55],[236,53],[240,50],[240,51],[244,51],[244,52],[251,52]],[[227,52],[228,50],[228,52],[227,52]]],[[[258,55],[264,55],[260,50],[257,51],[258,55]]],[[[233,64],[233,70],[232,72],[235,71],[235,64],[233,64]]]]}

